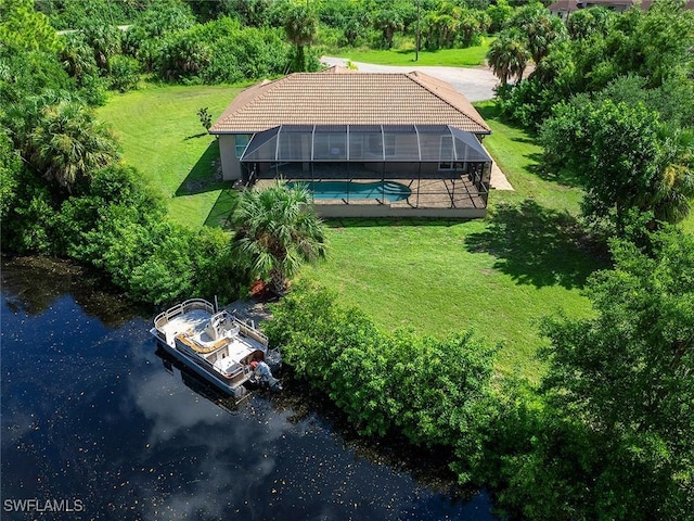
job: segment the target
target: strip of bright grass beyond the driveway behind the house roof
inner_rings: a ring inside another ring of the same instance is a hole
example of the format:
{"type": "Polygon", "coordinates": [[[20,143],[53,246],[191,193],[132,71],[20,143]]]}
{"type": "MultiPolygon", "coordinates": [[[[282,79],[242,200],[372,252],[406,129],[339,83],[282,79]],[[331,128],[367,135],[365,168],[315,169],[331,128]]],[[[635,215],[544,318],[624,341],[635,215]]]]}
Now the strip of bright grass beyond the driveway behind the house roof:
{"type": "Polygon", "coordinates": [[[346,58],[352,62],[372,63],[375,65],[402,65],[402,66],[448,66],[448,67],[478,67],[485,64],[485,56],[489,49],[489,42],[470,47],[467,49],[441,49],[438,51],[420,51],[420,58],[415,62],[414,47],[406,47],[396,50],[371,49],[338,49],[333,51],[336,58],[346,58]]]}

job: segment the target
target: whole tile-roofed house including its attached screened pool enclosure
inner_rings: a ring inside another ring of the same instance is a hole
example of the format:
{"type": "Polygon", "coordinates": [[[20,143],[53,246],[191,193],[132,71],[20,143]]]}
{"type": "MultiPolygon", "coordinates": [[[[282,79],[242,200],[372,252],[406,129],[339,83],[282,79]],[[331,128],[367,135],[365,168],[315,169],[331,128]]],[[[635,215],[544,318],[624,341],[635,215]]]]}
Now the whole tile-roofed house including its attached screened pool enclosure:
{"type": "Polygon", "coordinates": [[[223,178],[305,183],[323,216],[486,214],[490,129],[449,84],[331,67],[241,92],[210,128],[223,178]]]}

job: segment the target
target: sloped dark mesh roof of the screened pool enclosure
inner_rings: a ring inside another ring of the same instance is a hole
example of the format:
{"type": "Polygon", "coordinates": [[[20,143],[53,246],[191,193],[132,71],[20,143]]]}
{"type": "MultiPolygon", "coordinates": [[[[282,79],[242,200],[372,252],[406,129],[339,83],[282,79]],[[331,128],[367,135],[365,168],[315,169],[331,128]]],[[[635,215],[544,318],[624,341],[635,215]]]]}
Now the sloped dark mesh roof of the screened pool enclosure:
{"type": "Polygon", "coordinates": [[[242,163],[491,163],[473,132],[450,125],[281,125],[257,132],[242,163]]]}

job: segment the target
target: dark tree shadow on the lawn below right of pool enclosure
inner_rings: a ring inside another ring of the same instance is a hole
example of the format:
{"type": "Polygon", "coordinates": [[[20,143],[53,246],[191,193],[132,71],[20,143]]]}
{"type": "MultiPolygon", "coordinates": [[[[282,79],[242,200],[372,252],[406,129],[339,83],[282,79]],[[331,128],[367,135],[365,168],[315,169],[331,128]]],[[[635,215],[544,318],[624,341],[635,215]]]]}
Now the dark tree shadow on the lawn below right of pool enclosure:
{"type": "Polygon", "coordinates": [[[604,245],[571,215],[531,200],[497,207],[487,229],[468,236],[465,246],[493,255],[496,269],[536,288],[583,288],[590,274],[608,267],[604,245]]]}

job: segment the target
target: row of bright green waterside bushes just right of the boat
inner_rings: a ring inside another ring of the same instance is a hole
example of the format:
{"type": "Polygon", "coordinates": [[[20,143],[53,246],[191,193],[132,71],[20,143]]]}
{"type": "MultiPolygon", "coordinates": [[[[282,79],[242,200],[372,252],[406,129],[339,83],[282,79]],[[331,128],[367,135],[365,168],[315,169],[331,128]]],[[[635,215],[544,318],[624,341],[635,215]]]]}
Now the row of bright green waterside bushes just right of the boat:
{"type": "MultiPolygon", "coordinates": [[[[438,340],[381,331],[317,288],[296,288],[273,313],[266,332],[282,346],[286,364],[326,393],[361,433],[383,436],[396,429],[419,446],[479,447],[472,441],[496,350],[471,333],[438,340]]],[[[472,461],[476,450],[461,450],[460,460],[472,461]]]]}

